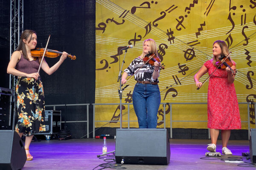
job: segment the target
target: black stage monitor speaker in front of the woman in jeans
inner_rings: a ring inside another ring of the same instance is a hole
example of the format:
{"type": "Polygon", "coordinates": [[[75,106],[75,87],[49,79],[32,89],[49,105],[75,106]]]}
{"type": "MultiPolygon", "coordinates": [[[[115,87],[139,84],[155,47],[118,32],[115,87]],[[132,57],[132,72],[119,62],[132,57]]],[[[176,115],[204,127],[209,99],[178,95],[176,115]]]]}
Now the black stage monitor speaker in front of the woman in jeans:
{"type": "Polygon", "coordinates": [[[116,129],[116,163],[168,164],[170,144],[166,129],[116,129]]]}

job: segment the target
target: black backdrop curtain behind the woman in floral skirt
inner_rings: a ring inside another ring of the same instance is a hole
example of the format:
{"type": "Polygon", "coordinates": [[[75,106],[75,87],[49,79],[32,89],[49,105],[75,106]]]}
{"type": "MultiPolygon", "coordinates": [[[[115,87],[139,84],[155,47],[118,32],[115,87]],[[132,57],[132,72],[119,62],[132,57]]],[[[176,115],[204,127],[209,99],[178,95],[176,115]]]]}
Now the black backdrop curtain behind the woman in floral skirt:
{"type": "MultiPolygon", "coordinates": [[[[3,0],[4,1],[4,0],[3,0]]],[[[1,23],[9,23],[8,3],[1,2],[1,23]],[[7,19],[7,21],[6,21],[7,19]]],[[[24,30],[32,29],[37,32],[37,47],[44,47],[49,34],[51,35],[49,49],[66,51],[75,55],[76,60],[67,58],[60,68],[52,75],[43,70],[40,76],[44,85],[46,105],[94,103],[95,101],[95,1],[94,0],[24,0],[24,30]]],[[[2,25],[2,24],[1,24],[2,25]]],[[[9,87],[9,75],[6,68],[9,62],[9,24],[1,26],[1,50],[5,51],[1,59],[0,87],[9,87]],[[2,29],[1,29],[2,30],[2,29]],[[7,35],[6,35],[7,34],[7,35]],[[8,45],[8,48],[6,46],[8,45]],[[2,82],[4,81],[4,82],[2,82]],[[6,83],[7,82],[7,83],[6,83]]],[[[54,65],[57,58],[45,58],[49,67],[54,65]]],[[[52,110],[52,108],[46,108],[52,110]]],[[[61,110],[62,121],[85,121],[86,107],[58,107],[61,110]]],[[[92,106],[89,113],[92,114],[92,106]]],[[[93,117],[90,115],[90,120],[93,117]]],[[[92,121],[90,121],[92,125],[92,121]]],[[[92,127],[92,126],[90,126],[92,127]]],[[[69,129],[73,138],[86,135],[86,122],[62,123],[62,129],[69,129]]],[[[92,128],[90,128],[90,131],[92,128]]],[[[91,135],[92,136],[92,135],[91,135]]]]}

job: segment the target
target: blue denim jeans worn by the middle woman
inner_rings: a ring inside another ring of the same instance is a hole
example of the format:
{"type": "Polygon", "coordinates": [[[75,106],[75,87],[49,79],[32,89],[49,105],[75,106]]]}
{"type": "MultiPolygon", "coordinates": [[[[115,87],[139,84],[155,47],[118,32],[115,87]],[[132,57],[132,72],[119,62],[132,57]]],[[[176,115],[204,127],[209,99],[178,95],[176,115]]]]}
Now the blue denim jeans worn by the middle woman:
{"type": "Polygon", "coordinates": [[[158,85],[136,83],[132,94],[134,111],[140,128],[156,128],[161,102],[158,85]]]}

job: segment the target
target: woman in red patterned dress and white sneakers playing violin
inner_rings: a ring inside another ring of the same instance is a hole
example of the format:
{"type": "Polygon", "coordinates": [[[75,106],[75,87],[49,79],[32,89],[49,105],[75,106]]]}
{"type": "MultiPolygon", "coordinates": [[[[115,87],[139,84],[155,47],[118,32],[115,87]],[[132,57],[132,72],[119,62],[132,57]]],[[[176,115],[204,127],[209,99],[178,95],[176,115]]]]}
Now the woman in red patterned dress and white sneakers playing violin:
{"type": "Polygon", "coordinates": [[[232,62],[230,68],[216,69],[220,66],[216,63],[220,63],[218,59],[221,55],[230,58],[227,44],[224,41],[217,40],[213,43],[212,54],[212,59],[205,62],[194,77],[196,86],[200,88],[202,83],[199,82],[199,79],[207,72],[209,75],[213,73],[209,78],[208,86],[207,127],[210,129],[211,144],[208,144],[207,150],[216,152],[216,143],[219,130],[221,130],[222,154],[232,155],[232,152],[227,149],[230,131],[231,129],[241,129],[239,106],[233,83],[235,74],[230,70],[230,68],[236,70],[236,63],[230,59],[232,62]]]}

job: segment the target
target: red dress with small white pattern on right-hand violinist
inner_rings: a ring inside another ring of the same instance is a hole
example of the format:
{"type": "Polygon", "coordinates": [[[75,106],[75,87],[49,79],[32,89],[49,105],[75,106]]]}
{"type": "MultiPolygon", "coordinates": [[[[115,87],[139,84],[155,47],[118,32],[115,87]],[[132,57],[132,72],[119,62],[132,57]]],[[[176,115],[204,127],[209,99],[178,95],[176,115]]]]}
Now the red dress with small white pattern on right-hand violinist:
{"type": "MultiPolygon", "coordinates": [[[[216,69],[212,60],[204,63],[208,74],[216,69]]],[[[241,119],[234,83],[227,81],[227,71],[217,69],[209,78],[208,125],[210,129],[241,129],[241,119]]]]}

